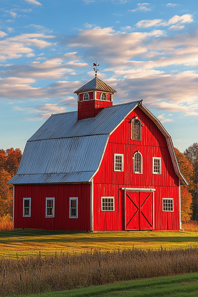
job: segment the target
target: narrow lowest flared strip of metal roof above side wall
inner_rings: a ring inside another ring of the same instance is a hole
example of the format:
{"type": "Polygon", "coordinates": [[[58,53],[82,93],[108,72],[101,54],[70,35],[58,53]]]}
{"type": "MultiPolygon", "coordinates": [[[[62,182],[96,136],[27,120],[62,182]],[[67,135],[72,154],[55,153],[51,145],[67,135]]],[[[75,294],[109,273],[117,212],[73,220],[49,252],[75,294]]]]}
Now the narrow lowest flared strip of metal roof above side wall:
{"type": "Polygon", "coordinates": [[[45,183],[71,183],[86,182],[95,171],[72,172],[72,173],[51,173],[51,174],[16,174],[9,184],[45,184],[45,183]]]}

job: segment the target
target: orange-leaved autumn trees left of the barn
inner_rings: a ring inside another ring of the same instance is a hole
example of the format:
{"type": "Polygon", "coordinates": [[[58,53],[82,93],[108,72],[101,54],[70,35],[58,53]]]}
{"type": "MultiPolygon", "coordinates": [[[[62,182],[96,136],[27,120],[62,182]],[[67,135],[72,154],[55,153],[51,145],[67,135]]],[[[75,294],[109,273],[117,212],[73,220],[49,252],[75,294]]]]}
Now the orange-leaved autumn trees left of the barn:
{"type": "Polygon", "coordinates": [[[0,216],[12,215],[13,187],[7,182],[17,172],[22,153],[20,149],[0,150],[0,216]]]}

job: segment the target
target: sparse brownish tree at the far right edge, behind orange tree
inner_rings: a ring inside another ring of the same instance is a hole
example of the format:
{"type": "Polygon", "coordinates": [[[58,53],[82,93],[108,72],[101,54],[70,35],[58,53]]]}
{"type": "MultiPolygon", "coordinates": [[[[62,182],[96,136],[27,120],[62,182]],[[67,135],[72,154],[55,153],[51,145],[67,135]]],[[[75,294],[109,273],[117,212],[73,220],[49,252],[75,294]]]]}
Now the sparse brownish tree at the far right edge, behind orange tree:
{"type": "Polygon", "coordinates": [[[193,143],[184,151],[184,156],[193,167],[193,219],[198,220],[198,142],[193,143]]]}

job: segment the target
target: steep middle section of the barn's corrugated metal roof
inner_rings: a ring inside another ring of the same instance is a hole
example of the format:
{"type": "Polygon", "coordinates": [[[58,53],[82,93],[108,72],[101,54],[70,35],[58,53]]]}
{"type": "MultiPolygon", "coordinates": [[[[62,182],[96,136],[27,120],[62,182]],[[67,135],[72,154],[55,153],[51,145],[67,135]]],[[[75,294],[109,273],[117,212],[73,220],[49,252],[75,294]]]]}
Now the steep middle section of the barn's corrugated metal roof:
{"type": "Polygon", "coordinates": [[[96,171],[108,135],[28,141],[17,174],[96,171]]]}

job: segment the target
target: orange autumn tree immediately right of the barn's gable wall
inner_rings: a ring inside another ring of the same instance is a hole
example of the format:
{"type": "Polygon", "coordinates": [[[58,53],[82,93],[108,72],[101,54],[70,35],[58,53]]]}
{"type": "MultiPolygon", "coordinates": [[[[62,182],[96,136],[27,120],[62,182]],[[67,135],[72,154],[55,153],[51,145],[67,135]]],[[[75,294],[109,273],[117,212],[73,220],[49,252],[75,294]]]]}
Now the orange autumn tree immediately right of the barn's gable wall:
{"type": "Polygon", "coordinates": [[[187,222],[190,221],[192,217],[192,195],[189,193],[189,190],[194,188],[193,184],[193,167],[189,163],[188,159],[182,154],[177,148],[175,149],[175,154],[178,160],[178,164],[180,167],[180,171],[183,176],[189,182],[188,186],[181,186],[180,187],[180,194],[181,194],[181,221],[187,222]]]}

